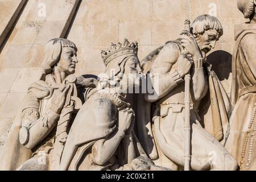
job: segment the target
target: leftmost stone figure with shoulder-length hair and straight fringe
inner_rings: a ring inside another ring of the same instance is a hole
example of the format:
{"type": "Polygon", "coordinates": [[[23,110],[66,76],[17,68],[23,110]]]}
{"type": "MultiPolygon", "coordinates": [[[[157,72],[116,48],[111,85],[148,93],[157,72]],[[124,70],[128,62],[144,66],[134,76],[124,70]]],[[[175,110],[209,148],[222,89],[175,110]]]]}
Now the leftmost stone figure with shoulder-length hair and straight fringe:
{"type": "Polygon", "coordinates": [[[46,44],[44,75],[28,88],[5,144],[1,169],[59,169],[69,123],[81,106],[77,78],[72,75],[78,62],[76,53],[76,45],[67,39],[46,44]]]}

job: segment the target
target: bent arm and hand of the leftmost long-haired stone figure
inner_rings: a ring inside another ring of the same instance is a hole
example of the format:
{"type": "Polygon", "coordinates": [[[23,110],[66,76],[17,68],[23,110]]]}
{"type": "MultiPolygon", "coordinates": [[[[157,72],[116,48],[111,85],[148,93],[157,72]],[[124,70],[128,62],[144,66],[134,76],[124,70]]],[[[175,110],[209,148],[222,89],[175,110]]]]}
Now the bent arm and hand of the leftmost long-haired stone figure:
{"type": "MultiPolygon", "coordinates": [[[[34,148],[40,141],[42,141],[52,131],[53,127],[57,125],[60,117],[60,112],[65,104],[65,97],[69,86],[63,86],[55,90],[52,96],[51,108],[46,110],[39,116],[39,109],[32,106],[23,110],[22,128],[19,131],[19,140],[27,148],[34,148]]],[[[27,94],[27,102],[36,102],[39,105],[38,98],[32,92],[27,94]]],[[[31,105],[31,104],[28,104],[31,105]]],[[[39,108],[39,107],[38,107],[39,108]]]]}

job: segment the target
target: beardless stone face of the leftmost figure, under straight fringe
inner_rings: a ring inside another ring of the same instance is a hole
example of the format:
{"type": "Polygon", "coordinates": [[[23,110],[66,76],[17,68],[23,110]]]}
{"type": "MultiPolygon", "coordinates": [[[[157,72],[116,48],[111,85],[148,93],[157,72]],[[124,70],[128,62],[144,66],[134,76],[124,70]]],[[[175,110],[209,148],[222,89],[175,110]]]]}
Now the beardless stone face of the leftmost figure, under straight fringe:
{"type": "Polygon", "coordinates": [[[77,54],[75,48],[63,47],[59,63],[57,63],[59,71],[67,73],[67,75],[75,73],[76,63],[78,63],[76,56],[77,54]]]}

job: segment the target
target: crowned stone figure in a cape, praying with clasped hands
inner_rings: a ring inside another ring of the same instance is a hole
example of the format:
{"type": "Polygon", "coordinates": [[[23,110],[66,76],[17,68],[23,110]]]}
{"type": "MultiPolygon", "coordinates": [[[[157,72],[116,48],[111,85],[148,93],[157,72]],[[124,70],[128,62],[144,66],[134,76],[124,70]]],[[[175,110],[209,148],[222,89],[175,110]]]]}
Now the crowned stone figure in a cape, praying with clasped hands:
{"type": "Polygon", "coordinates": [[[134,111],[125,98],[129,88],[140,85],[142,70],[137,52],[137,42],[127,39],[102,51],[106,74],[72,124],[61,170],[154,168],[134,134],[134,111]],[[135,81],[129,80],[129,74],[135,81]]]}

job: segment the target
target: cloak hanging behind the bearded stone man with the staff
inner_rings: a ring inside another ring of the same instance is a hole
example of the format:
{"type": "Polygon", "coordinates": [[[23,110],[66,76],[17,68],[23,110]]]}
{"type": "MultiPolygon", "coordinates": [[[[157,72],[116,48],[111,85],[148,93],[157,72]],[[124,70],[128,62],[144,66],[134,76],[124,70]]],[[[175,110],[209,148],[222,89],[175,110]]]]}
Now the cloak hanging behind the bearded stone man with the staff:
{"type": "MultiPolygon", "coordinates": [[[[174,43],[177,42],[175,41],[174,43]]],[[[142,61],[145,74],[150,71],[152,63],[154,63],[157,54],[162,48],[157,48],[142,61]],[[154,53],[156,55],[153,55],[154,53]]],[[[226,94],[224,87],[211,67],[208,63],[204,64],[204,69],[208,73],[209,90],[200,102],[198,114],[204,129],[220,141],[221,144],[225,144],[229,134],[229,116],[232,112],[232,105],[228,94],[226,94]]],[[[134,127],[139,142],[150,159],[153,161],[158,160],[160,156],[154,139],[154,123],[152,123],[155,104],[144,100],[143,93],[130,96],[129,102],[135,110],[136,122],[134,127]]]]}

